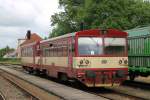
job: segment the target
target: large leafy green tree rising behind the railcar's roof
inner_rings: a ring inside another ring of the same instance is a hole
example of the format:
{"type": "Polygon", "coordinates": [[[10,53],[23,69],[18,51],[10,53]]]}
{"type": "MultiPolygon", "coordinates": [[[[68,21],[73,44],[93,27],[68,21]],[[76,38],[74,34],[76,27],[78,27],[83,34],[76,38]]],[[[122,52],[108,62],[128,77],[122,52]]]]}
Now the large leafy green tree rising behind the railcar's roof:
{"type": "Polygon", "coordinates": [[[59,0],[63,12],[51,17],[50,37],[85,29],[131,29],[150,23],[150,3],[143,0],[59,0]]]}

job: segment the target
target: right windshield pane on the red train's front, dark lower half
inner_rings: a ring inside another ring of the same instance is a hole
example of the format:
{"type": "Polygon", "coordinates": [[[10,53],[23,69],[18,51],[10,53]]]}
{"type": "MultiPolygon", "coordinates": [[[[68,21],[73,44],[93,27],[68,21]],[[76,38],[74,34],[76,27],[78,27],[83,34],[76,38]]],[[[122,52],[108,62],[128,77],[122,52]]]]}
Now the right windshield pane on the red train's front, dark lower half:
{"type": "Polygon", "coordinates": [[[125,54],[125,38],[104,38],[104,45],[106,55],[122,56],[125,54]]]}

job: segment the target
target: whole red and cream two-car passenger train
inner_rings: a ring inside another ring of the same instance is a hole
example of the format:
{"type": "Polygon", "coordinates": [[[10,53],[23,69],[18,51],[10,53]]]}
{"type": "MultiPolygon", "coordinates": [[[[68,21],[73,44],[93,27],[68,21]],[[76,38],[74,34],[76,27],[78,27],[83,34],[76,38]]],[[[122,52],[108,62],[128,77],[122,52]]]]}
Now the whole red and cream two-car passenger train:
{"type": "Polygon", "coordinates": [[[30,72],[76,79],[88,87],[115,86],[127,78],[127,33],[116,29],[70,33],[22,50],[29,47],[31,57],[22,57],[22,62],[30,72]]]}

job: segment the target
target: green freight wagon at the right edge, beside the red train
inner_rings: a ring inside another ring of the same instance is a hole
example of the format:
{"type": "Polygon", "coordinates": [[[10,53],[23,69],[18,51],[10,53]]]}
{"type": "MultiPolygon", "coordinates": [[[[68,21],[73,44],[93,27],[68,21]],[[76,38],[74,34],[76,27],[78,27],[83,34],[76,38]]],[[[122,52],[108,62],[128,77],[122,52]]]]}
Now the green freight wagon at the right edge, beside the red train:
{"type": "Polygon", "coordinates": [[[129,77],[150,75],[150,26],[127,30],[129,77]]]}

